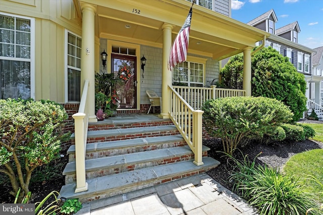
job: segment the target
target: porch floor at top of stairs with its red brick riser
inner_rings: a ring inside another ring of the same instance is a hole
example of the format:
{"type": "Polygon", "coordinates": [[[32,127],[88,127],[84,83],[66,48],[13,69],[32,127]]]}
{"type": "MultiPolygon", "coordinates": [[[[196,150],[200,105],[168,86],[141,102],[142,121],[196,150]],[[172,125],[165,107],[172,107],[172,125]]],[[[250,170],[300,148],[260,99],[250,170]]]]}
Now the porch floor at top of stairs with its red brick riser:
{"type": "Polygon", "coordinates": [[[117,116],[109,117],[103,121],[93,122],[88,124],[88,130],[107,130],[107,129],[120,129],[120,128],[132,128],[132,127],[150,127],[161,125],[173,125],[174,123],[170,119],[160,119],[156,115],[142,116],[117,116]]]}

